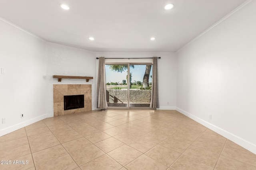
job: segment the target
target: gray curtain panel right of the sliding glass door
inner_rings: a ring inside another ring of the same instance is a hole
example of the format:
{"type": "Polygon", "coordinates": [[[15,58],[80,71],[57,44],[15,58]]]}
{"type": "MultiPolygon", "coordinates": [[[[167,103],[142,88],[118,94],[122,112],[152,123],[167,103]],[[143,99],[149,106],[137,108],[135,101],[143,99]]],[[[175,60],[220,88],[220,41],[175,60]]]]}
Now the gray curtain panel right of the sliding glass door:
{"type": "Polygon", "coordinates": [[[157,57],[153,57],[152,88],[151,89],[152,89],[152,92],[151,92],[150,108],[159,108],[157,57]]]}

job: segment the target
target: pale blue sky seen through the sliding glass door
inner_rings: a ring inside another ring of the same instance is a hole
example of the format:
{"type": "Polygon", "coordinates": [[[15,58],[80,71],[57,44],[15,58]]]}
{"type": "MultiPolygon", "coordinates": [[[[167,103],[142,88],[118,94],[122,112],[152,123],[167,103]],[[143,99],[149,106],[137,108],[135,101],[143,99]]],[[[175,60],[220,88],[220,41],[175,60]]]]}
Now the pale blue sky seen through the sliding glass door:
{"type": "MultiPolygon", "coordinates": [[[[130,72],[132,73],[132,82],[141,81],[143,82],[143,76],[145,74],[146,65],[134,65],[134,68],[130,68],[130,72]]],[[[106,82],[120,82],[122,80],[126,80],[127,71],[125,72],[114,72],[110,70],[109,66],[106,65],[106,82]]],[[[150,71],[150,75],[152,75],[152,67],[150,71]]],[[[149,78],[149,82],[152,82],[152,78],[149,78]]]]}

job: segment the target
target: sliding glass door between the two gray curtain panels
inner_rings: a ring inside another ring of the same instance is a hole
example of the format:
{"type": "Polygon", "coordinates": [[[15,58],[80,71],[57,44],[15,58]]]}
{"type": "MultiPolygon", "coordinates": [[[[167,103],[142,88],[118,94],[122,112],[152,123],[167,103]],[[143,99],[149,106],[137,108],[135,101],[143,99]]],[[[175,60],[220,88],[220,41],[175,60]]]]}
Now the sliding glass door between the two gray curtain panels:
{"type": "Polygon", "coordinates": [[[151,100],[152,64],[106,64],[108,107],[148,107],[151,100]]]}

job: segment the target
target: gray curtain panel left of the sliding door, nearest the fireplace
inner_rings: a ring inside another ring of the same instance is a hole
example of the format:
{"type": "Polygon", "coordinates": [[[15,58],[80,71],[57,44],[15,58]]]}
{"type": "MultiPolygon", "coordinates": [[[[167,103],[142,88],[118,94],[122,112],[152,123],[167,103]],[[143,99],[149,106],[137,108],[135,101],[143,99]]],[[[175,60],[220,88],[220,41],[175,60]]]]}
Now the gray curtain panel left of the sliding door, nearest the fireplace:
{"type": "Polygon", "coordinates": [[[106,101],[106,70],[105,70],[104,57],[100,57],[99,59],[97,97],[98,97],[97,108],[107,109],[108,104],[106,101]]]}

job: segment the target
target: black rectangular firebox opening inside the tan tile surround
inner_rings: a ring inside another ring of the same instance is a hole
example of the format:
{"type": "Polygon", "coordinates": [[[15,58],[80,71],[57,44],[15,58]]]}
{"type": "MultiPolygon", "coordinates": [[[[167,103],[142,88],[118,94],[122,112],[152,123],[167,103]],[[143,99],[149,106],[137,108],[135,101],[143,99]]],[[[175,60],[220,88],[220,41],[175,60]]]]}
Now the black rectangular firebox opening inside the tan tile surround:
{"type": "Polygon", "coordinates": [[[64,96],[64,110],[78,109],[84,107],[84,95],[64,96]]]}

